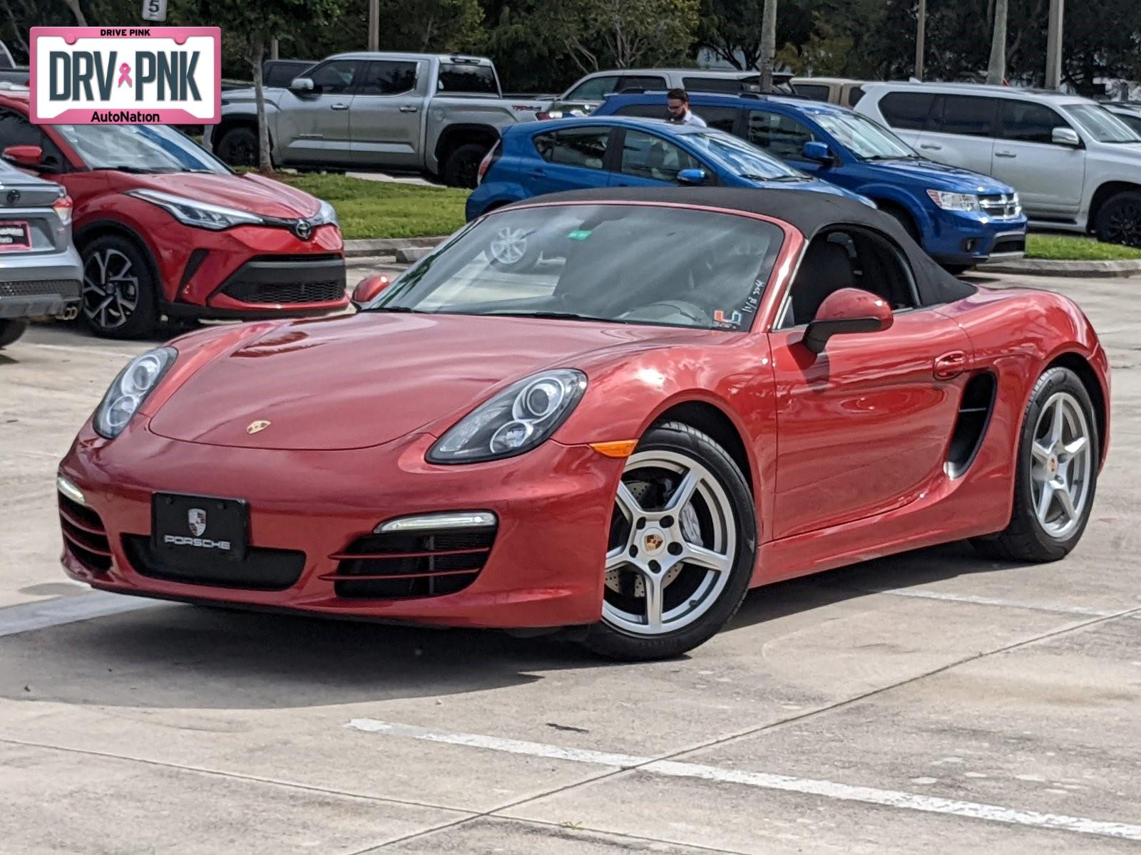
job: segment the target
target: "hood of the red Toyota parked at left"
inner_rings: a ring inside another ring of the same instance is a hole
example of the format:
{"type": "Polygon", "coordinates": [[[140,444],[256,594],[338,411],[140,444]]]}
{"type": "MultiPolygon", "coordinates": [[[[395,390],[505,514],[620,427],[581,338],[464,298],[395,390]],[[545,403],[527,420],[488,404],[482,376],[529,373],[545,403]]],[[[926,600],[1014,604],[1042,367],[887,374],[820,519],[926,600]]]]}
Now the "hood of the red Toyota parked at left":
{"type": "Polygon", "coordinates": [[[156,174],[120,173],[135,188],[172,193],[197,202],[236,207],[261,217],[298,219],[313,217],[321,207],[314,196],[281,181],[257,174],[171,172],[156,174]]]}

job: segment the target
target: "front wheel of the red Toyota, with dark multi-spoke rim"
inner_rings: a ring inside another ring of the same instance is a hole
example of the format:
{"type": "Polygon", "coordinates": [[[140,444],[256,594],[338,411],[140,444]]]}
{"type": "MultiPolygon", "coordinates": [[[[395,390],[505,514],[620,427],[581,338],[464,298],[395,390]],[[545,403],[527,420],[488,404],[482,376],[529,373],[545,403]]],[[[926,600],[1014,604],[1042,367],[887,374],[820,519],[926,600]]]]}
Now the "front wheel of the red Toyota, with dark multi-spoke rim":
{"type": "Polygon", "coordinates": [[[140,339],[159,320],[154,277],[143,252],[118,235],[83,246],[83,302],[88,328],[105,339],[140,339]]]}

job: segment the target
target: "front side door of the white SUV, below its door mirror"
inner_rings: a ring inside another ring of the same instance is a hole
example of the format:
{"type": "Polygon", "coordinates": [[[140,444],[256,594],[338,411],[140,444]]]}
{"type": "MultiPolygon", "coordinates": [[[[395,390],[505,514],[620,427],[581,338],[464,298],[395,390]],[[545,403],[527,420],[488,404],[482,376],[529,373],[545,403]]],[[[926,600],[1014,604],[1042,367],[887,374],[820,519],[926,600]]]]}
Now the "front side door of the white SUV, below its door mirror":
{"type": "Polygon", "coordinates": [[[1018,190],[1030,217],[1073,219],[1082,205],[1086,149],[1052,141],[1054,128],[1073,125],[1045,104],[1003,98],[987,171],[1018,190]]]}

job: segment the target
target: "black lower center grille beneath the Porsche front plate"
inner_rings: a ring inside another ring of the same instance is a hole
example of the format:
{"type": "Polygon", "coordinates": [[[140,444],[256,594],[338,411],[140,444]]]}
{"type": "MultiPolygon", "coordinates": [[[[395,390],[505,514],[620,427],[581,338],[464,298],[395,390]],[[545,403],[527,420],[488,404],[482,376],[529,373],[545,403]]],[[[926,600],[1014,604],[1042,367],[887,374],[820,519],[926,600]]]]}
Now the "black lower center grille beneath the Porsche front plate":
{"type": "Polygon", "coordinates": [[[284,591],[296,585],[305,570],[305,553],[292,549],[251,546],[244,559],[229,561],[209,554],[155,549],[149,537],[123,535],[123,552],[140,576],[219,588],[284,591]]]}

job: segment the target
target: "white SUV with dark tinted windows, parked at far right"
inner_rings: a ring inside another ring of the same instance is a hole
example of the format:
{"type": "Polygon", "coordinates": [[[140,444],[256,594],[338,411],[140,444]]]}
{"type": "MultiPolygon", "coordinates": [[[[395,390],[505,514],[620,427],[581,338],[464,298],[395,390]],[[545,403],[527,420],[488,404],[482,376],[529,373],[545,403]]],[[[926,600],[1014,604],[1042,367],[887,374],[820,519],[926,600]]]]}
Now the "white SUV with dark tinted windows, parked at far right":
{"type": "Polygon", "coordinates": [[[1141,136],[1095,101],[969,83],[866,83],[856,112],[932,160],[1012,185],[1031,226],[1141,246],[1141,136]]]}

